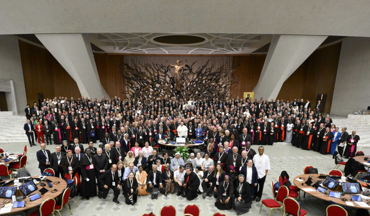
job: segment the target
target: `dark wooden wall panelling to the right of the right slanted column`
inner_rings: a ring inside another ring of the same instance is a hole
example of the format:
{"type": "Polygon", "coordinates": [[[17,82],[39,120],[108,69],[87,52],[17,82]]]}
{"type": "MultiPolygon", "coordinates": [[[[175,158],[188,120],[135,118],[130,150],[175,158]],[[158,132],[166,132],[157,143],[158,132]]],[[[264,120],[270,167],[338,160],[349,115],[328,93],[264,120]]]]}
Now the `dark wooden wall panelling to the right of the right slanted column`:
{"type": "Polygon", "coordinates": [[[284,82],[278,99],[309,99],[311,106],[316,106],[316,96],[327,94],[323,113],[331,109],[332,95],[337,77],[337,69],[342,43],[316,50],[284,82]]]}

